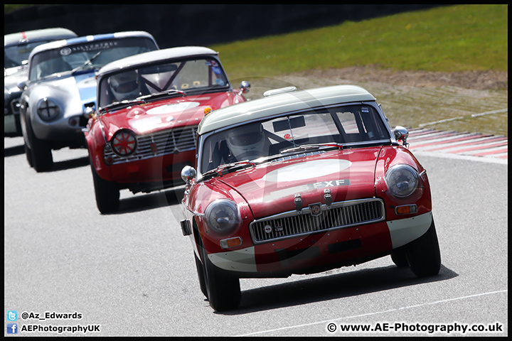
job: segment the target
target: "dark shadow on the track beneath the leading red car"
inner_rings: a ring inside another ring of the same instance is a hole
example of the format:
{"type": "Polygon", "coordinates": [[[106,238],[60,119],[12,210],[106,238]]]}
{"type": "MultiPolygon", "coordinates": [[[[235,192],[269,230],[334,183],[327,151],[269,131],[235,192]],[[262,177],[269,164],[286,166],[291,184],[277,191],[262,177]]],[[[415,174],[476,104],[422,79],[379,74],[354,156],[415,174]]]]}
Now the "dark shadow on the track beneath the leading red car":
{"type": "Polygon", "coordinates": [[[243,315],[262,310],[331,301],[420,283],[446,281],[457,276],[459,276],[457,273],[444,266],[441,266],[437,276],[425,278],[417,278],[409,268],[398,268],[395,265],[362,269],[242,291],[242,301],[238,309],[219,314],[243,315]]]}

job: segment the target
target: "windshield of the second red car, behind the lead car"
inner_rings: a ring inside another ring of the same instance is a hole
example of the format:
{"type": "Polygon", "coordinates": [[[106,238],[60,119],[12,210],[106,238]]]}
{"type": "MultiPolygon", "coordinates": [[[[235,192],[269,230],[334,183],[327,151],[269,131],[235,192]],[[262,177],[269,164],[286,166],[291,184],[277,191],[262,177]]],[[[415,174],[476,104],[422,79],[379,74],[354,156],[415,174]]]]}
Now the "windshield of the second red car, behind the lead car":
{"type": "Polygon", "coordinates": [[[98,86],[98,103],[102,108],[142,96],[147,102],[166,93],[220,90],[228,87],[228,78],[213,58],[166,60],[102,77],[98,86]]]}

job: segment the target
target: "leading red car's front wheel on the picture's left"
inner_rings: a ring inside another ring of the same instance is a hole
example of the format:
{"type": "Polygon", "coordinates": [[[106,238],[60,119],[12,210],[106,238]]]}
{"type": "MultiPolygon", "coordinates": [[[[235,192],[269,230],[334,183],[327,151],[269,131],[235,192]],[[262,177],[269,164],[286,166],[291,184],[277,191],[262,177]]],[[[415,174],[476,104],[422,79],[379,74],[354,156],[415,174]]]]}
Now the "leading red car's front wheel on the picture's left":
{"type": "Polygon", "coordinates": [[[240,279],[213,265],[204,247],[201,246],[199,249],[203,259],[203,274],[210,306],[215,311],[237,308],[241,298],[240,279]]]}

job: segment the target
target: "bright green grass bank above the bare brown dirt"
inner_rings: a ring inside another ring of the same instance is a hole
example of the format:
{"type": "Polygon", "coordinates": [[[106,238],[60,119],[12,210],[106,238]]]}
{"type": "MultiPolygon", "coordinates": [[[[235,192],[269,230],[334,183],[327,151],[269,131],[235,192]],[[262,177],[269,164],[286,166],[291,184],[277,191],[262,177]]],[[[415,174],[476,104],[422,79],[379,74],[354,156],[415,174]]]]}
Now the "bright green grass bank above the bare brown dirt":
{"type": "Polygon", "coordinates": [[[232,78],[377,65],[394,70],[508,70],[508,5],[444,6],[212,45],[232,78]]]}

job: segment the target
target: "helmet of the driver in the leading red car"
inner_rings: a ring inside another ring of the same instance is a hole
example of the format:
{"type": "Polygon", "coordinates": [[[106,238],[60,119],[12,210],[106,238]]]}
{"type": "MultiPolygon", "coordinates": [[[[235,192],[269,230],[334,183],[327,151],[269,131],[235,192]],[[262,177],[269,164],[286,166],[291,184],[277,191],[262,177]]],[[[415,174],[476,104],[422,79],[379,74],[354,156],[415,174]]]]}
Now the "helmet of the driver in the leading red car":
{"type": "Polygon", "coordinates": [[[267,156],[265,153],[266,140],[265,130],[261,124],[249,124],[232,129],[228,133],[226,143],[237,161],[242,161],[267,156]]]}

